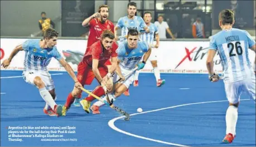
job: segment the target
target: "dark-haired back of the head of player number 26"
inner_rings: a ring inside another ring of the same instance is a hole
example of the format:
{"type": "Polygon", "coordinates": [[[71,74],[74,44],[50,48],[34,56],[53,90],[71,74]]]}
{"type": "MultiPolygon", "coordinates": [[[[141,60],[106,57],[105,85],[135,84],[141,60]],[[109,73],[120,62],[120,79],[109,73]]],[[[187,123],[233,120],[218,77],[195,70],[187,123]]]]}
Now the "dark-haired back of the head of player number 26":
{"type": "Polygon", "coordinates": [[[221,21],[221,24],[233,24],[235,21],[235,15],[234,12],[231,9],[224,9],[219,14],[219,21],[221,21]]]}

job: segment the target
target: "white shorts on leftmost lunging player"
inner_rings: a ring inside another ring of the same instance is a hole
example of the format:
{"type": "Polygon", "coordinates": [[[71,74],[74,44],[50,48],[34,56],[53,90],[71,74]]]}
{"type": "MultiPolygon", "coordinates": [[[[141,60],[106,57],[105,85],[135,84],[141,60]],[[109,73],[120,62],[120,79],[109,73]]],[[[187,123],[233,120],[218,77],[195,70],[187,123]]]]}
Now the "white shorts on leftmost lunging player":
{"type": "Polygon", "coordinates": [[[49,72],[44,71],[24,71],[22,73],[23,79],[29,83],[35,86],[34,79],[36,77],[40,77],[42,81],[45,83],[45,87],[47,90],[54,89],[54,81],[51,79],[51,75],[49,72]]]}

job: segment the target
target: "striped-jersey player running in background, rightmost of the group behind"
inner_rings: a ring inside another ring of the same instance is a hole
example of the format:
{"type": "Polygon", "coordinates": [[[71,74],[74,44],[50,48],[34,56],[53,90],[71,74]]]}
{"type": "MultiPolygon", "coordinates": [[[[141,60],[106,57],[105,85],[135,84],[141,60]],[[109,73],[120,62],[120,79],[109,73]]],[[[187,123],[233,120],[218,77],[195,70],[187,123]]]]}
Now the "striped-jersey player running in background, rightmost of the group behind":
{"type": "MultiPolygon", "coordinates": [[[[151,64],[154,70],[154,77],[156,77],[156,83],[157,83],[156,85],[157,87],[161,87],[161,85],[165,84],[165,80],[161,80],[160,71],[157,67],[157,53],[158,53],[157,48],[160,43],[160,38],[158,36],[158,29],[156,25],[151,23],[151,19],[152,19],[151,12],[145,12],[144,21],[149,28],[149,33],[144,31],[144,29],[141,29],[139,31],[139,34],[142,40],[146,41],[149,44],[149,46],[153,47],[148,59],[151,61],[151,64]],[[156,36],[156,44],[154,44],[154,36],[156,36]]],[[[139,85],[138,77],[139,77],[139,70],[137,70],[134,75],[134,83],[133,83],[134,87],[137,87],[139,85]]]]}

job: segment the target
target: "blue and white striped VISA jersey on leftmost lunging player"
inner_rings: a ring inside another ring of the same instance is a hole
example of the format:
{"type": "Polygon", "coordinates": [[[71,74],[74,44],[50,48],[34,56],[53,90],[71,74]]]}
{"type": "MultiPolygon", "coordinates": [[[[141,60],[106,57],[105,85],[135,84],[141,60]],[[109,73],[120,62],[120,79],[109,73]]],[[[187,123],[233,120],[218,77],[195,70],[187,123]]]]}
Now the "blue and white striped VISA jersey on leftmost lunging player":
{"type": "Polygon", "coordinates": [[[61,59],[61,55],[56,47],[44,49],[40,47],[39,43],[40,39],[28,39],[22,44],[22,48],[26,52],[24,71],[45,71],[52,57],[57,60],[61,59]]]}

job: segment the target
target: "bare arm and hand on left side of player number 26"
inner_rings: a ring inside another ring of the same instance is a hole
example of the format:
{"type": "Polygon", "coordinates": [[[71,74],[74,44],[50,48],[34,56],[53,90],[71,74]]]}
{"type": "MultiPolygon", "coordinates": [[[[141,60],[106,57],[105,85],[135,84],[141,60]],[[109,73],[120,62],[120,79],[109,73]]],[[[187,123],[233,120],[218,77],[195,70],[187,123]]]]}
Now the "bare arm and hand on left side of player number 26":
{"type": "Polygon", "coordinates": [[[207,70],[208,70],[208,73],[209,73],[209,78],[211,78],[211,82],[218,82],[219,80],[219,76],[218,75],[215,75],[214,74],[214,62],[213,62],[213,59],[214,59],[214,56],[216,54],[216,50],[213,50],[213,49],[209,49],[208,51],[208,56],[207,56],[207,59],[206,59],[206,67],[207,67],[207,70]]]}

